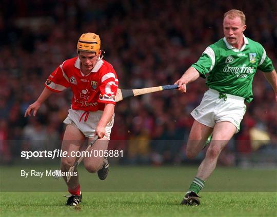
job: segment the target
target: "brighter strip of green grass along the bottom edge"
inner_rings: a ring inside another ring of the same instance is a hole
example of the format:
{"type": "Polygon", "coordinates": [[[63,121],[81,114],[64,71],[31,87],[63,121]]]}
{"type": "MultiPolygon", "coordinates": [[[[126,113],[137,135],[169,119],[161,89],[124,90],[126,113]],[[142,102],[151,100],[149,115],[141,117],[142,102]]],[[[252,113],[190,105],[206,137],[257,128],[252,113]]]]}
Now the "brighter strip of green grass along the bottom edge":
{"type": "Polygon", "coordinates": [[[273,192],[203,192],[201,206],[181,206],[177,192],[84,192],[81,209],[59,192],[1,194],[1,216],[276,216],[273,192]]]}

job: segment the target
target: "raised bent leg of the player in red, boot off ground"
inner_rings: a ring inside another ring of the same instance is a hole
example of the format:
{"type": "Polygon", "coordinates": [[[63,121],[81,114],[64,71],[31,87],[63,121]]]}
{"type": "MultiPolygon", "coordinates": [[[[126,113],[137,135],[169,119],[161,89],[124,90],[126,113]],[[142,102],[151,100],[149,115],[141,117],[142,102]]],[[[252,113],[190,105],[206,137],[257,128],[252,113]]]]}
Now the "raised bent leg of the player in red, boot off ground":
{"type": "MultiPolygon", "coordinates": [[[[91,142],[92,140],[93,138],[90,138],[89,142],[91,142]]],[[[84,158],[84,165],[87,171],[91,173],[98,172],[98,176],[101,180],[106,179],[109,169],[109,163],[106,159],[104,159],[104,153],[105,150],[108,149],[108,144],[109,140],[105,137],[97,140],[97,142],[95,142],[95,144],[91,147],[91,150],[89,150],[89,152],[92,153],[91,156],[84,158]]],[[[108,153],[106,152],[106,155],[107,154],[108,153]]]]}

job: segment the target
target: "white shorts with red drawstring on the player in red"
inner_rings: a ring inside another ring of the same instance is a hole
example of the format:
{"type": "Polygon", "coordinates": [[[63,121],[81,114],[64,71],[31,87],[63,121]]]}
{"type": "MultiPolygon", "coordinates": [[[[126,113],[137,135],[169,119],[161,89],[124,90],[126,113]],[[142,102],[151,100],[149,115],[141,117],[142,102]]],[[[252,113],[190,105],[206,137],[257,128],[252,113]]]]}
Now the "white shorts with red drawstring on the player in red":
{"type": "MultiPolygon", "coordinates": [[[[84,112],[86,111],[69,109],[67,118],[64,120],[64,123],[77,127],[86,137],[89,137],[89,138],[94,137],[95,129],[102,117],[103,111],[89,111],[87,114],[87,119],[86,119],[86,113],[84,112]]],[[[113,120],[114,120],[114,114],[112,115],[110,122],[105,127],[105,137],[108,140],[110,140],[113,120]]]]}

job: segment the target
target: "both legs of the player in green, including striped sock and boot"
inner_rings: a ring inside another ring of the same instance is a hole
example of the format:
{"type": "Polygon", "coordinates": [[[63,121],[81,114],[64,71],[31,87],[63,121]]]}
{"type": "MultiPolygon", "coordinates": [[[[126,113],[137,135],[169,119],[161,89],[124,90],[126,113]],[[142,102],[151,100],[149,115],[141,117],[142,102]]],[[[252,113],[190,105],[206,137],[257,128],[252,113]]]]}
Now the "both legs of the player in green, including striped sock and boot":
{"type": "Polygon", "coordinates": [[[210,128],[194,121],[187,146],[188,157],[196,156],[202,150],[205,141],[212,132],[213,136],[206,157],[201,163],[181,205],[200,205],[197,193],[204,187],[205,181],[216,166],[220,152],[231,139],[235,130],[236,127],[230,122],[219,122],[215,124],[214,128],[210,128]]]}

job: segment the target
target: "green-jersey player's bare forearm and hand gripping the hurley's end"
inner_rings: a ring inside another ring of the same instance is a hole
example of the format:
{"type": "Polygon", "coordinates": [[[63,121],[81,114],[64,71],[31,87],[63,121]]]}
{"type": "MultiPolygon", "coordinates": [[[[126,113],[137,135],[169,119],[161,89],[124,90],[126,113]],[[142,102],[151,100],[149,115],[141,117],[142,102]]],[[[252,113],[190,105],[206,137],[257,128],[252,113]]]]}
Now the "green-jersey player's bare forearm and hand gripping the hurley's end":
{"type": "Polygon", "coordinates": [[[195,68],[190,67],[174,84],[178,85],[178,90],[180,90],[181,92],[187,92],[186,85],[190,82],[195,81],[197,78],[199,78],[199,76],[199,72],[195,68]]]}

